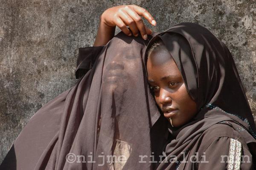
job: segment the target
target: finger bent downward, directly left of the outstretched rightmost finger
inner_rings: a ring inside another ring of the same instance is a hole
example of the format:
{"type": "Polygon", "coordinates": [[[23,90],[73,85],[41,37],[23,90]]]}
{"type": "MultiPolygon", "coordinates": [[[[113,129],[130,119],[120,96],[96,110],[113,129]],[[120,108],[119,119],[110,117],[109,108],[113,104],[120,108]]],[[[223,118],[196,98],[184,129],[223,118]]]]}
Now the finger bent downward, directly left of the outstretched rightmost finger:
{"type": "Polygon", "coordinates": [[[126,12],[135,21],[136,26],[139,29],[141,36],[143,37],[144,40],[146,40],[148,36],[147,36],[146,29],[145,29],[145,25],[144,25],[143,20],[140,17],[140,15],[138,15],[136,12],[134,12],[130,8],[127,8],[126,12]]]}

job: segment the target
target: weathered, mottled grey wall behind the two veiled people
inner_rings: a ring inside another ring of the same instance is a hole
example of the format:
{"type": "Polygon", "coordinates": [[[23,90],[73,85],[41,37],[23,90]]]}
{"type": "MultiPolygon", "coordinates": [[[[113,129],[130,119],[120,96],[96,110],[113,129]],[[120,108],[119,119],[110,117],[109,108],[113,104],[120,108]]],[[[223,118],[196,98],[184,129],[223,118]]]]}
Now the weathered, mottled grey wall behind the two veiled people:
{"type": "Polygon", "coordinates": [[[0,162],[35,112],[76,82],[79,47],[91,46],[107,8],[137,4],[154,31],[191,21],[232,52],[256,114],[255,0],[0,0],[0,162]]]}

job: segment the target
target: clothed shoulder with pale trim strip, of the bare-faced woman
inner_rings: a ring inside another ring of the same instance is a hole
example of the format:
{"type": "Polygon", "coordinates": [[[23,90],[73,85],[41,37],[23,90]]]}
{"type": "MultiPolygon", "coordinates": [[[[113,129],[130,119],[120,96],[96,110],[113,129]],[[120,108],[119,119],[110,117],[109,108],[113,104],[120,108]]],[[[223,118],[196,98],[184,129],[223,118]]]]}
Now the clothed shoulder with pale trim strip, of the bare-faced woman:
{"type": "Polygon", "coordinates": [[[201,135],[198,153],[201,160],[199,169],[211,166],[218,169],[250,169],[253,167],[253,158],[248,146],[239,132],[228,123],[215,124],[201,135]]]}

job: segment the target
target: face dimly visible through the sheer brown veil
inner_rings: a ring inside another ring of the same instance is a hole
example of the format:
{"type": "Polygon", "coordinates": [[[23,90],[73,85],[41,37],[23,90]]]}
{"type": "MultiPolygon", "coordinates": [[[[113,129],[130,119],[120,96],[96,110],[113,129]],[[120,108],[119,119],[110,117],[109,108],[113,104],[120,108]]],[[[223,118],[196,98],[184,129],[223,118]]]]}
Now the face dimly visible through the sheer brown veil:
{"type": "Polygon", "coordinates": [[[127,44],[122,40],[116,40],[108,48],[109,55],[105,59],[103,86],[108,94],[113,92],[123,94],[136,82],[136,73],[140,68],[140,49],[136,49],[136,43],[127,44]],[[119,52],[116,52],[119,46],[119,52]]]}

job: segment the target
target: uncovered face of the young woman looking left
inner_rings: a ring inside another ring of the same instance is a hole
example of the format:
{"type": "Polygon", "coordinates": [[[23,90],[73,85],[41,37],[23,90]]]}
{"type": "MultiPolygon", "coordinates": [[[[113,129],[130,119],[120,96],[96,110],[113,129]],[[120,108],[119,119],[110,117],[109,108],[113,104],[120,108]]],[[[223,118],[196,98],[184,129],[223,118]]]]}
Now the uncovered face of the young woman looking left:
{"type": "Polygon", "coordinates": [[[174,127],[186,124],[195,116],[196,103],[186,90],[182,75],[166,48],[151,52],[147,61],[148,82],[157,105],[174,127]]]}

